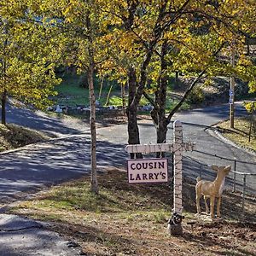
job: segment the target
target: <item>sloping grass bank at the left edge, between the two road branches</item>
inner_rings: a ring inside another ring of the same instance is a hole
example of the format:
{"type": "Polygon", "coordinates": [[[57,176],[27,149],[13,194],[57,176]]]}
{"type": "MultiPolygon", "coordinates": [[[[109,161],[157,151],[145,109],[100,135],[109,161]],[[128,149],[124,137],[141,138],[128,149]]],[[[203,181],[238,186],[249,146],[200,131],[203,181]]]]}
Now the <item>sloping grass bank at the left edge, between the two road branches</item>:
{"type": "Polygon", "coordinates": [[[42,142],[49,137],[20,125],[0,125],[0,152],[42,142]]]}

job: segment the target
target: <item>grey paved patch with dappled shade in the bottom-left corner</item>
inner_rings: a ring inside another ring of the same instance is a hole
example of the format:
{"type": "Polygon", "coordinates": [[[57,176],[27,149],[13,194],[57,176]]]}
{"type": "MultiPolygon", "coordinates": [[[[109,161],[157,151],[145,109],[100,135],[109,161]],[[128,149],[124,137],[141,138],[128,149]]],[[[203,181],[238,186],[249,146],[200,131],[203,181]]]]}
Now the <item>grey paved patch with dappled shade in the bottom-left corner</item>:
{"type": "Polygon", "coordinates": [[[66,241],[45,224],[15,215],[0,215],[1,256],[78,256],[79,245],[66,241]]]}

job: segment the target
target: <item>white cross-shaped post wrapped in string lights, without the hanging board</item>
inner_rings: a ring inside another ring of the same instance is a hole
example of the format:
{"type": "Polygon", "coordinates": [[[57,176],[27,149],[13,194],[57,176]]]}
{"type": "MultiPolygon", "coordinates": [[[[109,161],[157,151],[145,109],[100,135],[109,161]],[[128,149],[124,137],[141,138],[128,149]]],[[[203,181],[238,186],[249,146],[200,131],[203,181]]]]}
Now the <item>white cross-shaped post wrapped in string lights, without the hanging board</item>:
{"type": "Polygon", "coordinates": [[[173,153],[174,168],[174,190],[173,190],[173,210],[172,217],[168,222],[168,231],[172,235],[182,235],[182,177],[183,177],[183,151],[193,151],[195,143],[183,143],[183,127],[179,120],[173,123],[173,143],[157,143],[157,144],[135,144],[126,146],[128,153],[157,153],[171,152],[173,153]]]}

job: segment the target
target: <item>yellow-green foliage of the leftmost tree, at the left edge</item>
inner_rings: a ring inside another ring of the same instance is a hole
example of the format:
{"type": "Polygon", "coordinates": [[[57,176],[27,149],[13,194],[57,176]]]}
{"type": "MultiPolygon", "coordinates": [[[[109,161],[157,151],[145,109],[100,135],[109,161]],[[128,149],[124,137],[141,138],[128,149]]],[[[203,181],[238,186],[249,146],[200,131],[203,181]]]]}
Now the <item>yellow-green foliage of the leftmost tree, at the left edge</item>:
{"type": "Polygon", "coordinates": [[[47,38],[46,27],[31,20],[36,16],[31,12],[38,8],[38,1],[3,1],[1,7],[0,19],[4,22],[0,26],[0,60],[5,65],[4,69],[0,67],[0,86],[22,101],[42,105],[53,85],[60,83],[54,72],[55,41],[47,38]]]}

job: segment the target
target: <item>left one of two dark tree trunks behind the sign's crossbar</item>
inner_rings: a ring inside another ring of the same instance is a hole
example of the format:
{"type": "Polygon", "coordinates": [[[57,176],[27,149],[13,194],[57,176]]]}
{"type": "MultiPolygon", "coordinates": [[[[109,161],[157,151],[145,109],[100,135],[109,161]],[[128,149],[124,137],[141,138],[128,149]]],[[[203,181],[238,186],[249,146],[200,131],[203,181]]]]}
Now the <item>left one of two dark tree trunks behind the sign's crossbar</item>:
{"type": "MultiPolygon", "coordinates": [[[[136,81],[136,72],[134,68],[131,68],[128,74],[128,90],[129,90],[129,97],[128,97],[128,107],[126,108],[126,115],[128,118],[128,143],[129,144],[139,144],[140,137],[139,137],[139,129],[137,126],[137,105],[131,106],[133,99],[137,92],[137,81],[136,81]]],[[[143,158],[143,154],[131,153],[131,159],[134,158],[143,158]]]]}

